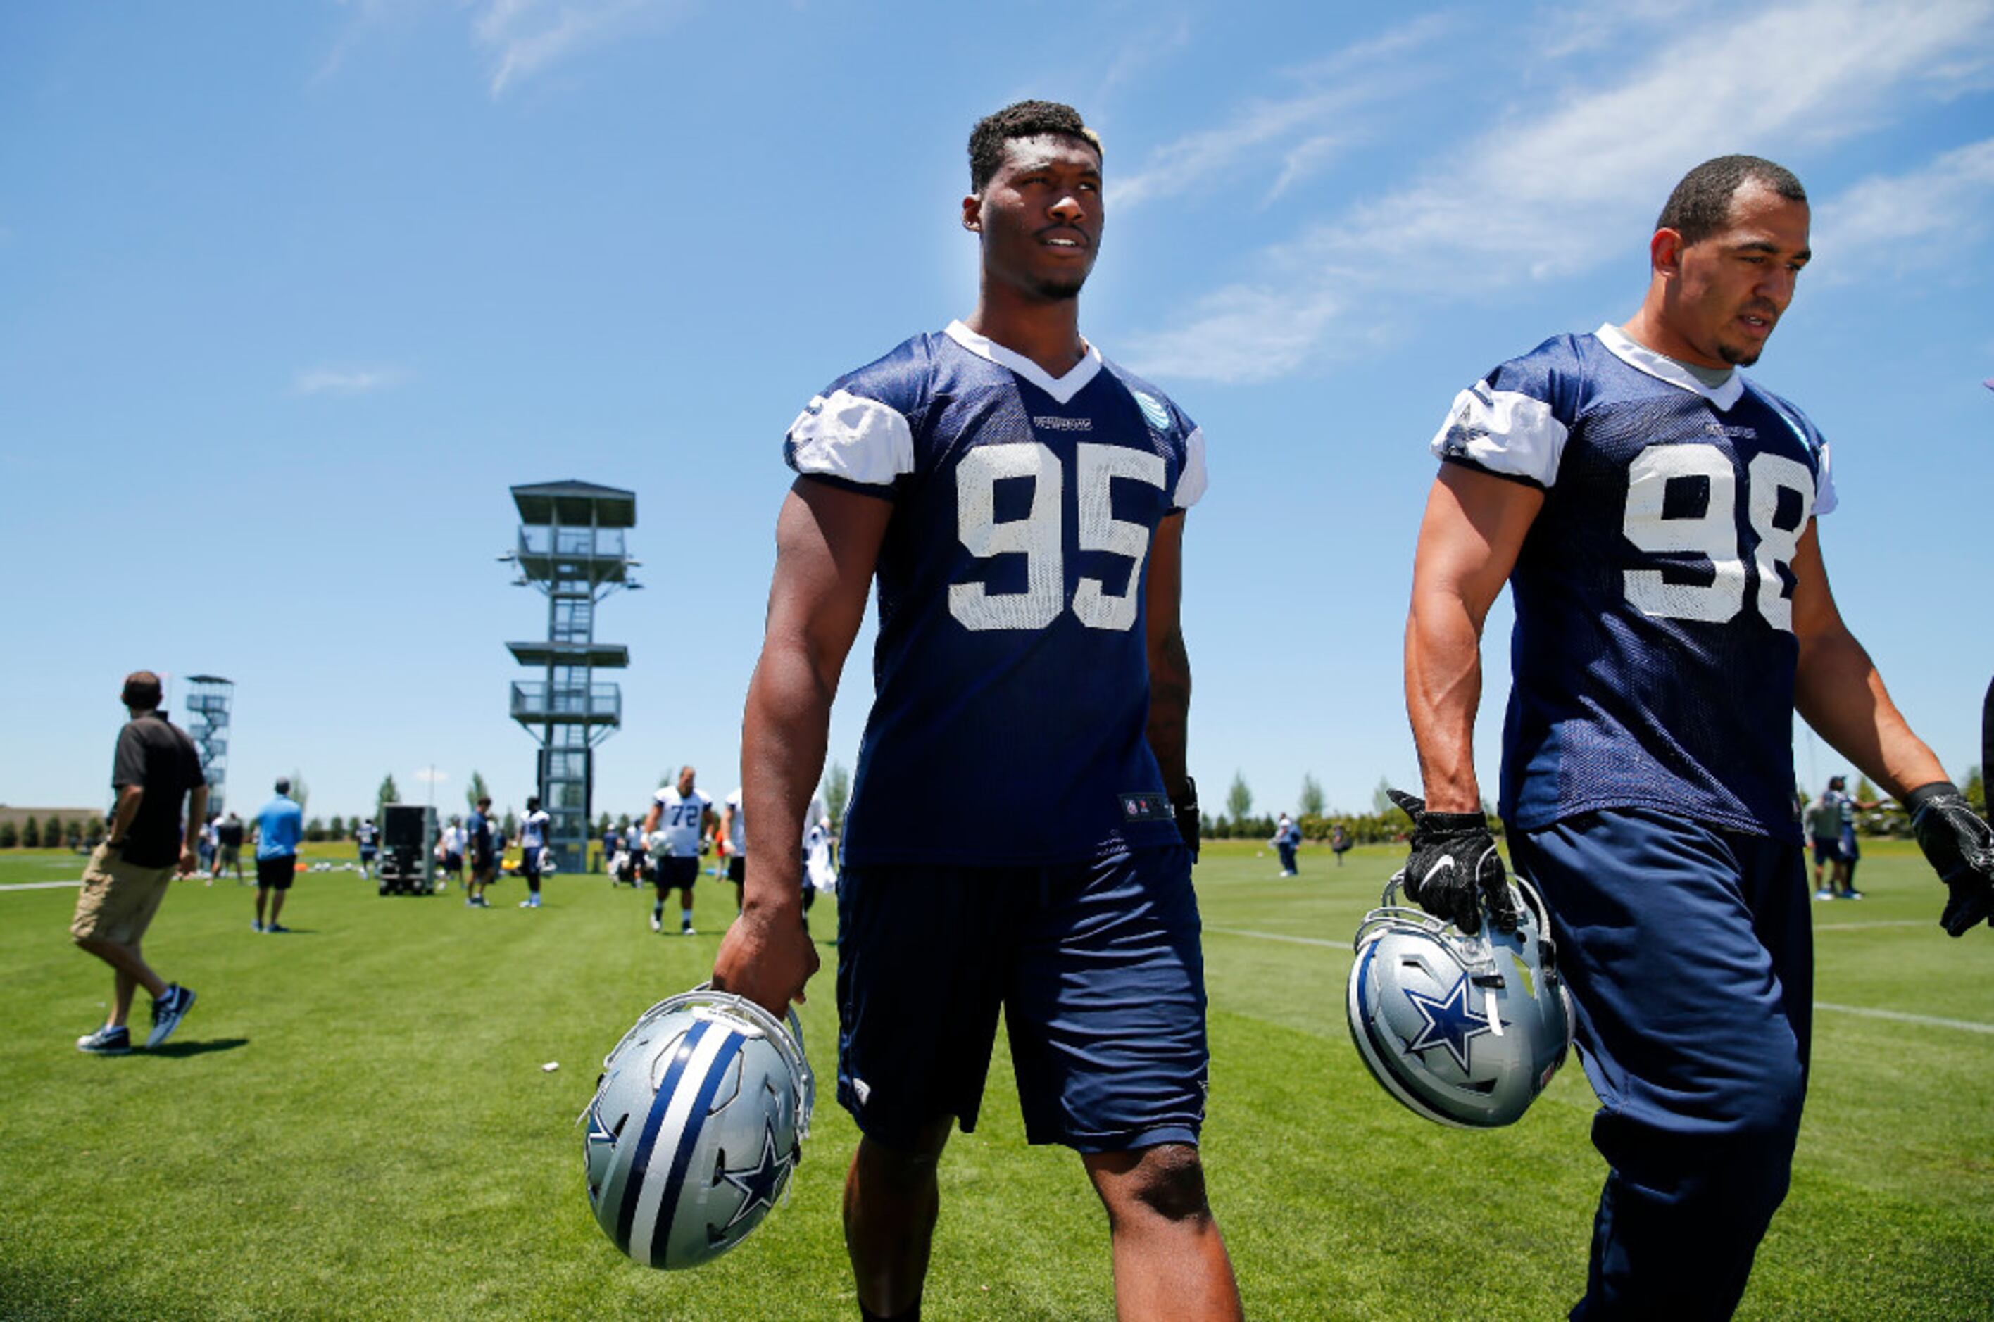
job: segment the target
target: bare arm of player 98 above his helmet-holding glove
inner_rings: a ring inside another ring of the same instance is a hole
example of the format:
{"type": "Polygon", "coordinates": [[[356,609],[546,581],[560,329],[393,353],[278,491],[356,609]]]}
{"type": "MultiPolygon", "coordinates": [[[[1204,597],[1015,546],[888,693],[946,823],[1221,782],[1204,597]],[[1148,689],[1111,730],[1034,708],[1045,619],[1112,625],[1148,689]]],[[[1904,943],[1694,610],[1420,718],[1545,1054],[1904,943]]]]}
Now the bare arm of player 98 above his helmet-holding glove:
{"type": "Polygon", "coordinates": [[[1406,714],[1432,812],[1482,812],[1482,626],[1539,508],[1535,487],[1462,465],[1444,465],[1426,498],[1406,618],[1406,714]]]}

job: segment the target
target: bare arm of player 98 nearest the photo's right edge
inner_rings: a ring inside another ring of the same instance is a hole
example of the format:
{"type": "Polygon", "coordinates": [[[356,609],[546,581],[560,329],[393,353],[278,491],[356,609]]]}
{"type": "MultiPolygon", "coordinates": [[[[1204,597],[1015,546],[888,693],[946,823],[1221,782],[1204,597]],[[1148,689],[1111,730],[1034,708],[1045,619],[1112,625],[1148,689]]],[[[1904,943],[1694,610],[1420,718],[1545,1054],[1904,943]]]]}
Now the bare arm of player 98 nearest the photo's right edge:
{"type": "Polygon", "coordinates": [[[1938,758],[1890,702],[1870,654],[1842,622],[1828,590],[1817,522],[1801,536],[1793,576],[1793,632],[1801,642],[1793,702],[1807,724],[1896,800],[1946,780],[1938,758]]]}

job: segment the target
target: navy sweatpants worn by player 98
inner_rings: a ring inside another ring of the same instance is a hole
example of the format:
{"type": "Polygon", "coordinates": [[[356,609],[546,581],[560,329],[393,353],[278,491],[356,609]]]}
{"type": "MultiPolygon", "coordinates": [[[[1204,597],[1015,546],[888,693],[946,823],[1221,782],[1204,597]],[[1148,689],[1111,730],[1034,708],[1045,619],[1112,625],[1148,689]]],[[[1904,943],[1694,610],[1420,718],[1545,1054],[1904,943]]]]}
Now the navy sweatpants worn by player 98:
{"type": "Polygon", "coordinates": [[[1509,831],[1571,987],[1607,1182],[1573,1318],[1729,1318],[1787,1196],[1815,953],[1799,845],[1649,810],[1509,831]]]}

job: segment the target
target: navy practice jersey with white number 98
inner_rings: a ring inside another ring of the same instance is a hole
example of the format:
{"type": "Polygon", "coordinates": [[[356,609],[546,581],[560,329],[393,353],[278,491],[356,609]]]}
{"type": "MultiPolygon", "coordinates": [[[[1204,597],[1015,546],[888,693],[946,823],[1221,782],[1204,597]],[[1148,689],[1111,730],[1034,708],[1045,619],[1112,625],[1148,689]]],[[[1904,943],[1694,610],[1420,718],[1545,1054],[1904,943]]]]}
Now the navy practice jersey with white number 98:
{"type": "Polygon", "coordinates": [[[1462,391],[1434,453],[1545,493],[1509,576],[1503,820],[1655,808],[1797,841],[1793,554],[1834,508],[1813,423],[1603,325],[1462,391]]]}

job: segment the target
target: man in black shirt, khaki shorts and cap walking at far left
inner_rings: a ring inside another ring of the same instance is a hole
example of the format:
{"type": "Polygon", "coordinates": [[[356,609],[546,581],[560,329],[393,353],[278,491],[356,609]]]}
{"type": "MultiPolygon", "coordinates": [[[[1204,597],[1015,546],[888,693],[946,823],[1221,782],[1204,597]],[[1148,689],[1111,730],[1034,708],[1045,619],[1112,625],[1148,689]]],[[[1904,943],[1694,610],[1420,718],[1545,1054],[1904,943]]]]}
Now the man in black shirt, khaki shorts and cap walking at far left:
{"type": "Polygon", "coordinates": [[[207,818],[207,778],[201,776],[193,740],[160,710],[160,676],[134,670],[118,700],[130,718],[118,732],[112,758],[118,804],[104,839],[84,863],[84,889],[76,895],[76,917],[70,921],[76,947],[112,967],[110,1019],[76,1039],[76,1049],[90,1055],[132,1049],[126,1019],[140,987],[152,997],[148,1047],[164,1045],[193,1007],[193,991],[154,973],[142,947],[173,875],[195,867],[189,835],[207,818]]]}

